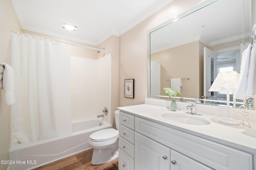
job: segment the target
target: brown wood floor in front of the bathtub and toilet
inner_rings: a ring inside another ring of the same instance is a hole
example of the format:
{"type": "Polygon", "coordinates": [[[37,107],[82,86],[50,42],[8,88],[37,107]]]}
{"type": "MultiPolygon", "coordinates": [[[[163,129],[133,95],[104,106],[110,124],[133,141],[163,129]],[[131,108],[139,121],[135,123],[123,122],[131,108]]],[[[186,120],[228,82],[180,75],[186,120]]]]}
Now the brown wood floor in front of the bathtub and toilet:
{"type": "Polygon", "coordinates": [[[92,165],[93,149],[57,160],[33,170],[118,170],[118,158],[101,165],[92,165]]]}

